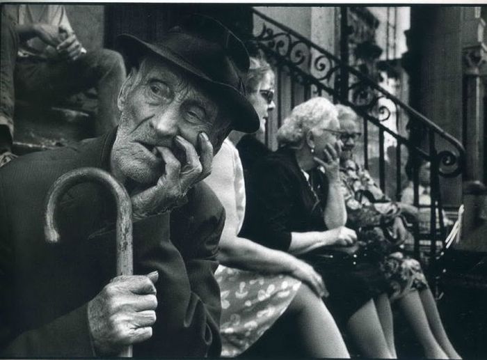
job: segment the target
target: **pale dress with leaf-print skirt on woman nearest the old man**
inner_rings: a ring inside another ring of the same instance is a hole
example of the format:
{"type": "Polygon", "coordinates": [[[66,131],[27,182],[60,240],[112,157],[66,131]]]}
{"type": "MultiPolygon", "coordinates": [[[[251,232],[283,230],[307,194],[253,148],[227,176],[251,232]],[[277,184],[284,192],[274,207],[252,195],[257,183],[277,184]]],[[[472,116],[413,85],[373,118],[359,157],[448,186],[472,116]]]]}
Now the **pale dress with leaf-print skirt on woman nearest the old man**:
{"type": "MultiPolygon", "coordinates": [[[[238,230],[244,221],[246,194],[239,152],[225,139],[205,180],[220,198],[238,230]]],[[[225,226],[228,224],[225,223],[225,226]]],[[[285,274],[259,274],[218,266],[215,272],[221,293],[220,333],[222,357],[237,357],[253,345],[284,313],[301,281],[285,274]]]]}

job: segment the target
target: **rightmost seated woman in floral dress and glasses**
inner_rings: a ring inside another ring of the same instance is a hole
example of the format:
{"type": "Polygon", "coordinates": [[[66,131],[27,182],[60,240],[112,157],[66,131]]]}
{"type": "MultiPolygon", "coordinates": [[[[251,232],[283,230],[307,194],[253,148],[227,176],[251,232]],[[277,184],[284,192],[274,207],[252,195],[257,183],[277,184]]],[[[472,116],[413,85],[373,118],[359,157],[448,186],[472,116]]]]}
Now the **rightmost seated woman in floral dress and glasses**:
{"type": "Polygon", "coordinates": [[[401,212],[412,212],[412,207],[390,202],[369,173],[353,160],[355,140],[359,134],[358,118],[349,107],[337,105],[337,109],[344,144],[340,174],[349,217],[347,225],[357,230],[369,228],[362,230],[358,237],[378,253],[381,269],[389,281],[390,299],[399,305],[413,327],[426,357],[459,359],[443,328],[420,263],[397,251],[399,248],[394,246],[412,236],[401,218],[401,212]]]}

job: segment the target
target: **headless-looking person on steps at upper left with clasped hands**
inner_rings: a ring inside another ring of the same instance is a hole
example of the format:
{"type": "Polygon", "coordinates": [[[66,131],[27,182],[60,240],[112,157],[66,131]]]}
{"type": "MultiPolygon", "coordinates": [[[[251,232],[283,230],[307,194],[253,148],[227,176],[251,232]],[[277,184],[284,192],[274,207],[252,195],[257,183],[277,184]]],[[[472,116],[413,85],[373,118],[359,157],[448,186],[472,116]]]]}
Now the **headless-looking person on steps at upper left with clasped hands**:
{"type": "Polygon", "coordinates": [[[2,5],[0,166],[15,157],[15,98],[45,105],[95,87],[100,135],[117,124],[116,97],[124,80],[122,56],[108,49],[86,52],[64,6],[2,5]]]}

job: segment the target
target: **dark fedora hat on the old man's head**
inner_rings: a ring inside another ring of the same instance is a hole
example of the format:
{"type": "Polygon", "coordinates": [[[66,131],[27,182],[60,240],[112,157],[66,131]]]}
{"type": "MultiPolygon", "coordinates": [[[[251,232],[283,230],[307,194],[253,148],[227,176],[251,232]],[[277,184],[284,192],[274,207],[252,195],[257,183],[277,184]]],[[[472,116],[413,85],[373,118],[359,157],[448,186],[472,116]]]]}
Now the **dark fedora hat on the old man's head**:
{"type": "Polygon", "coordinates": [[[234,130],[259,130],[259,116],[245,96],[243,78],[250,63],[247,50],[220,22],[191,15],[155,42],[129,34],[118,36],[117,42],[129,65],[137,66],[147,54],[160,56],[209,88],[216,101],[229,109],[234,130]]]}

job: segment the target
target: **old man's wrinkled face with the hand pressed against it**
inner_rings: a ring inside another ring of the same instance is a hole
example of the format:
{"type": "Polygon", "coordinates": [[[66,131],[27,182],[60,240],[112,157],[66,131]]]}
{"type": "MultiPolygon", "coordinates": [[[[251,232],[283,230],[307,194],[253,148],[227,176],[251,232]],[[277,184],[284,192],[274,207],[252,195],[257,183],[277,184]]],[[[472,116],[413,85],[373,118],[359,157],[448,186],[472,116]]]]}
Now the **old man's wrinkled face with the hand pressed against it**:
{"type": "Polygon", "coordinates": [[[177,205],[211,172],[218,107],[181,72],[154,58],[122,86],[111,153],[115,177],[132,185],[134,217],[177,205]]]}

